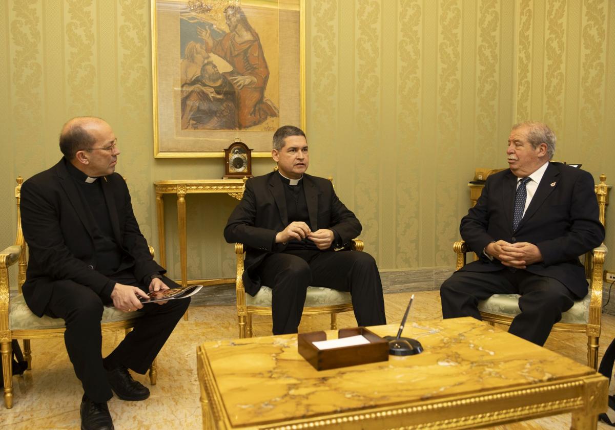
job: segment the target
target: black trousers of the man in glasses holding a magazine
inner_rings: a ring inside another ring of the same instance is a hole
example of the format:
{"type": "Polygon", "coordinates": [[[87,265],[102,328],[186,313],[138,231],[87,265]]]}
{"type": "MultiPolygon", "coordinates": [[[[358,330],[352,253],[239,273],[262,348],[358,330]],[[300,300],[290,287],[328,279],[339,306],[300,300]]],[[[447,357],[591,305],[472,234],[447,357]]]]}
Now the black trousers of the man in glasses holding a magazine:
{"type": "MultiPolygon", "coordinates": [[[[134,278],[113,279],[122,284],[140,287],[148,292],[134,278]]],[[[169,288],[178,284],[163,276],[162,281],[169,288]]],[[[75,374],[81,380],[85,395],[94,402],[106,402],[113,393],[106,379],[101,355],[102,334],[100,320],[104,306],[101,297],[91,289],[69,280],[52,284],[52,295],[45,315],[62,318],[66,324],[64,342],[73,363],[75,374]]],[[[143,313],[135,321],[135,327],[117,348],[105,358],[109,369],[124,365],[137,373],[145,373],[151,362],[169,338],[177,322],[184,315],[190,299],[170,300],[164,305],[148,303],[139,311],[143,313]]]]}

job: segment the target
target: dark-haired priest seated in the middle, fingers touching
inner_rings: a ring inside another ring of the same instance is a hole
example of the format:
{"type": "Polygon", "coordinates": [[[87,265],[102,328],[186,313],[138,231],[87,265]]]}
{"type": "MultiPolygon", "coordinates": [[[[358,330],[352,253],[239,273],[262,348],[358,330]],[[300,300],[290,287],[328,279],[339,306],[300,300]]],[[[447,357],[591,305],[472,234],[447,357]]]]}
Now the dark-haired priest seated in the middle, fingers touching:
{"type": "Polygon", "coordinates": [[[338,251],[361,232],[331,181],[306,174],[308,143],[297,127],[273,136],[278,171],[248,179],[224,238],[245,244],[244,285],[272,287],[273,333],[296,333],[308,286],[349,291],[359,326],[386,324],[376,262],[366,252],[338,251]]]}

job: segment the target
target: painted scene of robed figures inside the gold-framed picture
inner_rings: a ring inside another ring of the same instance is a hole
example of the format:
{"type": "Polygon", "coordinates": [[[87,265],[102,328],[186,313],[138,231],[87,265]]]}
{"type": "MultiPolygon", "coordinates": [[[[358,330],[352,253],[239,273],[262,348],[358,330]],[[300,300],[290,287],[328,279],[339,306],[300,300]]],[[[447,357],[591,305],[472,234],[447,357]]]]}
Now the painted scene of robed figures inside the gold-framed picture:
{"type": "Polygon", "coordinates": [[[279,111],[268,97],[271,72],[259,34],[240,6],[223,10],[228,31],[212,23],[209,12],[193,7],[180,14],[182,130],[277,127],[279,111]]]}

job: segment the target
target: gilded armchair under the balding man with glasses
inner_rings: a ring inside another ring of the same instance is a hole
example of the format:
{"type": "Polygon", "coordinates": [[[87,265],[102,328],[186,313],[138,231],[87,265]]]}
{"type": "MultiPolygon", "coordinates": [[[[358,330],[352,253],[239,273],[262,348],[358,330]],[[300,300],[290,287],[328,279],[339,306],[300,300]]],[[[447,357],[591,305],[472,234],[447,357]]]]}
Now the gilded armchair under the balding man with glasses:
{"type": "MultiPolygon", "coordinates": [[[[17,178],[15,198],[17,199],[17,239],[15,244],[0,251],[0,354],[2,356],[2,378],[4,380],[4,404],[7,408],[13,406],[12,385],[12,347],[13,339],[23,340],[23,352],[28,361],[28,370],[31,369],[31,339],[43,339],[62,337],[64,335],[64,321],[60,318],[43,316],[38,318],[26,305],[22,294],[22,285],[26,280],[26,268],[28,267],[28,246],[22,233],[20,219],[20,192],[23,178],[17,178]],[[10,297],[9,267],[18,264],[17,287],[18,294],[10,297]]],[[[154,255],[154,249],[150,246],[149,252],[154,255]]],[[[134,326],[134,321],[140,315],[139,312],[122,312],[116,308],[105,308],[101,320],[102,332],[113,330],[125,330],[129,332],[134,326]]],[[[149,369],[151,385],[156,385],[156,360],[149,369]]]]}

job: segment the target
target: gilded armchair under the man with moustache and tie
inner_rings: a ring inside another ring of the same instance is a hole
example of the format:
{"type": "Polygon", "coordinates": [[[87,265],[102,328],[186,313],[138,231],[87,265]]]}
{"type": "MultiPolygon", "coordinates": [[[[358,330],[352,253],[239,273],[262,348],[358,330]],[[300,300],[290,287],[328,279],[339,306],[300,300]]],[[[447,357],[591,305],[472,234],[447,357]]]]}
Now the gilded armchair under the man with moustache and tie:
{"type": "MultiPolygon", "coordinates": [[[[605,181],[606,176],[601,174],[600,184],[594,186],[594,189],[600,209],[600,222],[606,227],[609,186],[605,184],[605,181]]],[[[466,253],[469,250],[466,243],[459,240],[453,244],[453,251],[457,254],[456,268],[459,269],[466,264],[466,253]]],[[[587,335],[587,365],[593,367],[593,369],[598,368],[603,264],[606,252],[606,246],[601,244],[598,248],[585,254],[585,276],[589,282],[589,293],[584,299],[574,302],[573,307],[561,315],[561,321],[555,324],[552,329],[554,332],[573,332],[587,335]]],[[[478,310],[484,321],[510,326],[512,319],[521,313],[518,305],[519,297],[517,294],[494,294],[489,299],[478,302],[478,310]]]]}

